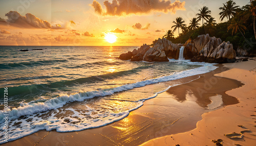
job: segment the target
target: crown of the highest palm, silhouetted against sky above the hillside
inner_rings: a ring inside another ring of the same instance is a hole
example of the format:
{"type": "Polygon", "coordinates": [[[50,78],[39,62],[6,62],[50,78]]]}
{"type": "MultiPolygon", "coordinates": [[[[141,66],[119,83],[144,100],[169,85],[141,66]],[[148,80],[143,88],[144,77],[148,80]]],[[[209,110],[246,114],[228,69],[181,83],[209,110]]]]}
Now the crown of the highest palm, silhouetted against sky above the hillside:
{"type": "Polygon", "coordinates": [[[221,21],[227,17],[229,20],[231,17],[236,14],[237,9],[239,6],[235,6],[236,2],[233,2],[232,0],[227,1],[226,3],[223,4],[223,7],[220,7],[219,9],[222,10],[222,12],[219,13],[221,21]]]}

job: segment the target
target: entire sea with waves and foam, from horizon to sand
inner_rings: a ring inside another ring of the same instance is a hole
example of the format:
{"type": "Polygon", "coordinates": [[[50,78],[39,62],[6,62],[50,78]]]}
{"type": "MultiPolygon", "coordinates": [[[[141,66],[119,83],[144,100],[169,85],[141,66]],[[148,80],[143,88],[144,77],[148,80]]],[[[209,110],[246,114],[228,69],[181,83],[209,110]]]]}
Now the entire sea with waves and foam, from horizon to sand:
{"type": "MultiPolygon", "coordinates": [[[[184,60],[183,54],[169,62],[118,59],[120,54],[138,47],[0,46],[0,91],[4,94],[4,88],[8,88],[9,108],[4,113],[1,98],[1,132],[5,114],[8,141],[39,130],[71,132],[105,126],[169,89],[166,81],[217,68],[184,60]],[[154,88],[148,88],[150,84],[154,88]]],[[[173,86],[178,84],[174,82],[173,86]]],[[[0,144],[4,140],[1,135],[0,144]]]]}

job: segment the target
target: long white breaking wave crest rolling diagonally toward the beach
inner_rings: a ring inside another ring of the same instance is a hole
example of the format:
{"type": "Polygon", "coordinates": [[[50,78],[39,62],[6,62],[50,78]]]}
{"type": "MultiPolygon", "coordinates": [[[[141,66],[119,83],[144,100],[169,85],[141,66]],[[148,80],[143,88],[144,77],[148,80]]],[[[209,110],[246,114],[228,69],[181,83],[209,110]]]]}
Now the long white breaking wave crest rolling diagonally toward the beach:
{"type": "MultiPolygon", "coordinates": [[[[163,76],[156,79],[149,79],[149,80],[140,81],[133,84],[126,84],[116,88],[104,89],[99,91],[89,91],[89,92],[80,91],[79,93],[71,94],[71,95],[67,95],[67,94],[59,95],[56,98],[50,99],[44,103],[23,104],[18,108],[13,108],[12,110],[8,110],[8,114],[11,117],[13,116],[19,117],[22,115],[34,114],[37,112],[43,112],[51,109],[60,108],[63,105],[67,104],[68,102],[83,101],[85,99],[91,99],[96,96],[111,95],[115,92],[131,90],[133,88],[142,87],[149,84],[172,81],[172,80],[181,79],[188,76],[204,74],[216,68],[217,68],[216,66],[206,63],[204,66],[194,68],[194,69],[184,70],[180,72],[175,72],[173,75],[170,75],[170,76],[163,76]]],[[[3,117],[4,117],[4,111],[0,111],[0,118],[3,119],[3,117]]]]}

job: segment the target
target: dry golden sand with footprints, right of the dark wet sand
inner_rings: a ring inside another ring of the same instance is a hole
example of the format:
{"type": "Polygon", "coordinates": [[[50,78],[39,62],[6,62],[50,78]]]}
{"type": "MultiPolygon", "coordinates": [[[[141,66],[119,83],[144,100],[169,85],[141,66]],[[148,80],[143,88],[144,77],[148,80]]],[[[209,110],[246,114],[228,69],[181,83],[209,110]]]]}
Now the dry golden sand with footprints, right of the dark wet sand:
{"type": "Polygon", "coordinates": [[[216,142],[225,145],[253,145],[256,142],[256,107],[253,104],[256,103],[255,58],[223,65],[230,69],[215,74],[215,77],[234,79],[244,84],[226,91],[239,100],[238,104],[203,113],[202,120],[198,121],[193,130],[155,138],[141,145],[214,145],[216,142]]]}

